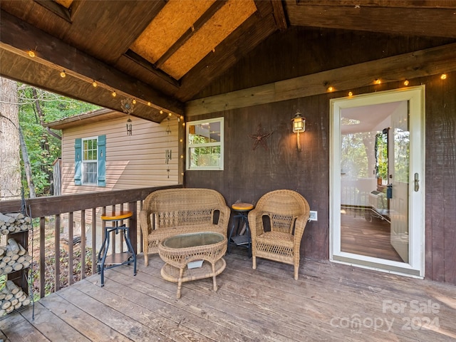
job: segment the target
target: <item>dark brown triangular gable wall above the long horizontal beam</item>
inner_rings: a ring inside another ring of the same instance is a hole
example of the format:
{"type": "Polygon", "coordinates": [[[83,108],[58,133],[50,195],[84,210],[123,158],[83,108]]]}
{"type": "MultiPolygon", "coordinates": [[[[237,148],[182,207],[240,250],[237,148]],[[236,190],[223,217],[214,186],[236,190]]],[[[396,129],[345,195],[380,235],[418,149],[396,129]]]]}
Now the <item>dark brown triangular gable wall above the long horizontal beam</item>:
{"type": "MultiPolygon", "coordinates": [[[[252,53],[195,98],[227,93],[297,76],[375,61],[454,43],[456,39],[290,27],[266,39],[252,53]]],[[[375,75],[375,78],[378,78],[375,75]]]]}

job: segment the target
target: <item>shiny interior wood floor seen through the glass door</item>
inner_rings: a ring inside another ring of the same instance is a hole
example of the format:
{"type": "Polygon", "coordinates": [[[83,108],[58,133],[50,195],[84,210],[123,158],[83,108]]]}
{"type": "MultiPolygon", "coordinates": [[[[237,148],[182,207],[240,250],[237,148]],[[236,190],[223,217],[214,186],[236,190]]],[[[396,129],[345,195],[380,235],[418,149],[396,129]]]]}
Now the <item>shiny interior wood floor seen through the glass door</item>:
{"type": "Polygon", "coordinates": [[[343,208],[341,251],[403,262],[391,246],[390,223],[373,214],[371,209],[343,208]]]}

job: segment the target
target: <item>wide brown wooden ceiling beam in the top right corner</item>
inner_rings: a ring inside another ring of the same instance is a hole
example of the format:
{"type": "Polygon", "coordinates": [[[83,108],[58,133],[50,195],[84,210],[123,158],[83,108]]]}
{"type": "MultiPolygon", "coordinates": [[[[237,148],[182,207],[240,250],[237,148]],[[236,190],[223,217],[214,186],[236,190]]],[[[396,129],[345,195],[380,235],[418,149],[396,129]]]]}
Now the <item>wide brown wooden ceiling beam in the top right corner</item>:
{"type": "Polygon", "coordinates": [[[286,0],[285,11],[290,25],[456,38],[456,1],[452,0],[447,1],[452,4],[447,8],[408,7],[406,10],[393,6],[363,6],[359,1],[348,1],[352,6],[308,3],[286,0]]]}

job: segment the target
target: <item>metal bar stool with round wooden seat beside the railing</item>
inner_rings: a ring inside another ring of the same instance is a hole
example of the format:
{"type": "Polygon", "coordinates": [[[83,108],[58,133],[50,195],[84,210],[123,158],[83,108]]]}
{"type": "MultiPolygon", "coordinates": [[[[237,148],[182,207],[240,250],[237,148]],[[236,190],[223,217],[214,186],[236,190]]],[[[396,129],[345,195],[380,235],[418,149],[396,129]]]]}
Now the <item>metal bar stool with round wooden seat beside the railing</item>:
{"type": "Polygon", "coordinates": [[[133,275],[136,275],[136,254],[133,246],[130,242],[130,232],[129,227],[126,227],[125,224],[119,226],[119,222],[123,219],[130,219],[133,216],[133,212],[129,211],[120,211],[120,212],[113,212],[112,214],[104,214],[101,215],[101,219],[103,222],[113,222],[112,227],[105,227],[105,239],[103,244],[101,245],[100,251],[98,252],[98,274],[101,274],[101,286],[105,285],[105,269],[112,269],[115,266],[130,265],[130,262],[133,261],[133,275]],[[123,234],[123,238],[125,243],[127,244],[128,251],[122,253],[114,253],[108,254],[108,247],[110,244],[110,233],[115,232],[115,234],[119,234],[121,232],[123,234]]]}

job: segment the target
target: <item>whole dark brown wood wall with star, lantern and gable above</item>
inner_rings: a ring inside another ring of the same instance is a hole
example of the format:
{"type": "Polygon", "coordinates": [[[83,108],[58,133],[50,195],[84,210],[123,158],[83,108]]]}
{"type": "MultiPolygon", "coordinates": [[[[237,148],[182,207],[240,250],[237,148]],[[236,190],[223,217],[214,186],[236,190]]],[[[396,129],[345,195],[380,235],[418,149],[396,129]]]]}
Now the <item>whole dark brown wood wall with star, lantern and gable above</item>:
{"type": "MultiPolygon", "coordinates": [[[[415,51],[451,41],[435,38],[391,37],[343,31],[304,31],[291,28],[278,33],[235,66],[219,82],[200,94],[215,95],[318,71],[415,51]]],[[[378,76],[373,76],[377,78],[378,76]]],[[[410,80],[426,85],[426,271],[429,279],[456,284],[456,73],[446,81],[438,76],[410,80]]],[[[305,87],[305,85],[303,85],[305,87]]],[[[386,83],[354,89],[353,93],[402,88],[386,83]]],[[[328,259],[329,255],[329,100],[346,93],[316,95],[250,108],[200,115],[191,120],[225,120],[224,171],[185,173],[186,187],[210,187],[227,204],[238,199],[255,203],[270,190],[291,189],[318,211],[318,222],[304,232],[302,255],[328,259]],[[291,118],[296,109],[306,116],[302,151],[296,150],[291,118]],[[258,125],[272,131],[252,150],[258,125]]]]}

